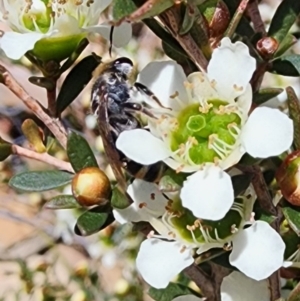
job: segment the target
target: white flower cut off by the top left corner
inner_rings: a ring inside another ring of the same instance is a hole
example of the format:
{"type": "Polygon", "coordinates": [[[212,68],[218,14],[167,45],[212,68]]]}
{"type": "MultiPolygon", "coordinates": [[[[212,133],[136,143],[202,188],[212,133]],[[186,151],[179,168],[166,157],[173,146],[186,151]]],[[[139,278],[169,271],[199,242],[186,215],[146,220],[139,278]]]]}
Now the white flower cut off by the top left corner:
{"type": "MultiPolygon", "coordinates": [[[[66,44],[69,47],[75,47],[89,33],[98,33],[108,39],[111,26],[97,24],[100,14],[111,2],[112,0],[0,0],[0,20],[14,31],[4,33],[0,39],[0,48],[9,58],[20,59],[28,50],[38,46],[38,41],[45,38],[55,38],[52,44],[62,43],[62,38],[68,38],[66,44]]],[[[125,45],[130,37],[131,26],[124,23],[115,28],[114,45],[125,45]]]]}

